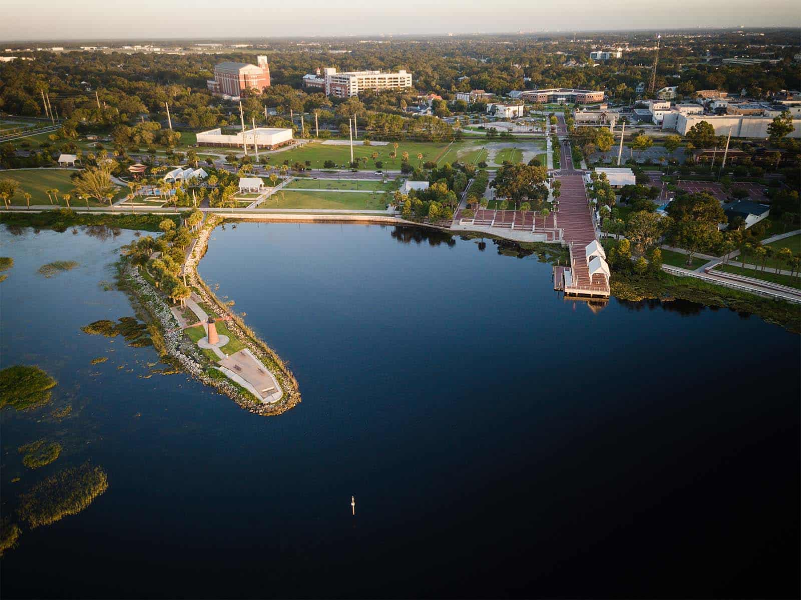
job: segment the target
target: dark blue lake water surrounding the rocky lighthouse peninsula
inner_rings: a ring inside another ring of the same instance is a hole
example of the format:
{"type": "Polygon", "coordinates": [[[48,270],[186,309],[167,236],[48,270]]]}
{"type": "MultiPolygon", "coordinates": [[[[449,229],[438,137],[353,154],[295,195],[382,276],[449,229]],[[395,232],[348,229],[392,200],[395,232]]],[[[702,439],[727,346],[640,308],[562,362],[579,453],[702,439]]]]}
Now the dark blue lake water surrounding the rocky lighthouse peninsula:
{"type": "Polygon", "coordinates": [[[110,485],[23,533],[3,597],[799,594],[798,336],[687,303],[593,312],[535,257],[420,231],[212,238],[203,277],[300,381],[280,417],[141,379],[151,348],[78,332],[131,314],[97,285],[119,239],[3,233],[3,363],[42,364],[55,405],[80,406],[62,424],[3,413],[3,512],[40,476],[17,445],[45,434],[110,485]],[[71,252],[99,258],[35,274],[71,252]]]}

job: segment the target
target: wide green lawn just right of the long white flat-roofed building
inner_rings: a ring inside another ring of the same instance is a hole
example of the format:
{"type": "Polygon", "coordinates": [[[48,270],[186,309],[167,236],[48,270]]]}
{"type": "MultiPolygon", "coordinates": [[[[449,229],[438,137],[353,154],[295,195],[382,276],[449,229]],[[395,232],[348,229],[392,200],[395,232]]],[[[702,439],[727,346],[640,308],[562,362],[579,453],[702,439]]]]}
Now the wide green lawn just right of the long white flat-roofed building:
{"type": "MultiPolygon", "coordinates": [[[[458,143],[455,143],[454,146],[457,144],[458,143]]],[[[376,170],[376,165],[373,163],[371,157],[372,153],[376,152],[378,154],[377,160],[383,161],[384,163],[381,168],[400,169],[400,157],[404,152],[409,152],[409,163],[417,167],[419,164],[417,159],[418,153],[423,155],[424,163],[429,160],[436,162],[437,160],[441,159],[441,155],[447,148],[448,143],[398,142],[397,157],[396,159],[392,160],[389,158],[389,155],[392,153],[393,149],[392,143],[389,143],[386,146],[354,146],[353,158],[359,160],[360,157],[364,156],[368,159],[367,164],[366,166],[363,166],[363,164],[360,162],[359,168],[368,171],[374,171],[376,170]]],[[[312,167],[315,168],[318,167],[318,164],[320,168],[323,168],[326,160],[332,160],[337,165],[347,165],[350,162],[350,146],[327,145],[323,143],[312,142],[305,144],[300,148],[294,148],[292,150],[279,152],[272,155],[270,164],[274,167],[277,167],[284,163],[284,160],[288,160],[290,164],[305,163],[305,161],[308,160],[311,161],[312,167]]]]}

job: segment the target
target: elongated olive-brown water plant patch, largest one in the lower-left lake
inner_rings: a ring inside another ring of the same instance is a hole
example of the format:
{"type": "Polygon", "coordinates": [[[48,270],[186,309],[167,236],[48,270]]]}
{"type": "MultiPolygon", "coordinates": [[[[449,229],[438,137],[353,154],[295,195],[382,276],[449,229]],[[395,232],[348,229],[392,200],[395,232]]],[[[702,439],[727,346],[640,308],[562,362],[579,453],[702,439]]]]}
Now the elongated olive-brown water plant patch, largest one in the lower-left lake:
{"type": "Polygon", "coordinates": [[[18,513],[31,528],[50,525],[80,513],[107,489],[108,477],[100,467],[84,464],[64,469],[23,493],[18,513]]]}

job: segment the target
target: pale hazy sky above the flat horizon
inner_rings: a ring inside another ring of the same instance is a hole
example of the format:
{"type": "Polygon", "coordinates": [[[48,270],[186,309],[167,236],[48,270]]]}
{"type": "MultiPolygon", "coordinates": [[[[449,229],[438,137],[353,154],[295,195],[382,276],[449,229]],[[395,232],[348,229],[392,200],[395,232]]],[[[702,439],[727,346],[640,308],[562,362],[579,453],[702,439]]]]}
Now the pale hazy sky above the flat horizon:
{"type": "Polygon", "coordinates": [[[0,42],[801,26],[798,0],[2,0],[0,42]]]}

